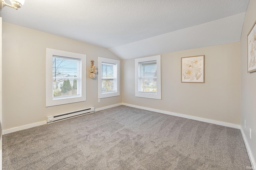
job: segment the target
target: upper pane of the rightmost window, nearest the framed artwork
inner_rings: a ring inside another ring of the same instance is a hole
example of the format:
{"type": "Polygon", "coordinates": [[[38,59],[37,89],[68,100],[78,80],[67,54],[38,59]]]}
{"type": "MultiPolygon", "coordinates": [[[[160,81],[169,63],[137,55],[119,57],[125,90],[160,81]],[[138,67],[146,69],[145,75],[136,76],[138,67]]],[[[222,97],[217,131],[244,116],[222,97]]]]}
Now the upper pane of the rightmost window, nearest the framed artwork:
{"type": "Polygon", "coordinates": [[[156,61],[140,63],[141,77],[156,77],[156,61]]]}

